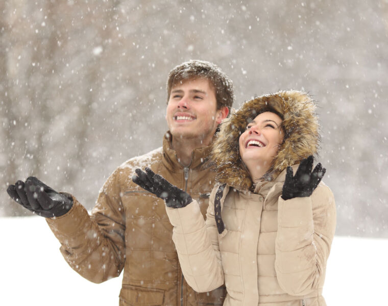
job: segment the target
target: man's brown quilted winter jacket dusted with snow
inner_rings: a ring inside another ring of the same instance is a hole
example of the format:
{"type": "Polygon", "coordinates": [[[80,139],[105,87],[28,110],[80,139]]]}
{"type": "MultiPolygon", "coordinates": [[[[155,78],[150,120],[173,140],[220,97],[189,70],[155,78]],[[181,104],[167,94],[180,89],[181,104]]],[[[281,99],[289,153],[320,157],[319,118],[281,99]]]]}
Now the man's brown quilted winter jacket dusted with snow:
{"type": "Polygon", "coordinates": [[[91,215],[72,196],[74,205],[67,214],[46,220],[67,263],[89,281],[104,282],[124,268],[120,306],[221,305],[224,288],[197,293],[187,285],[164,202],[131,179],[136,168],[148,166],[186,190],[205,216],[214,185],[207,167],[209,147],[194,150],[190,166],[183,167],[168,139],[171,135],[163,147],[119,166],[101,189],[91,215]]]}

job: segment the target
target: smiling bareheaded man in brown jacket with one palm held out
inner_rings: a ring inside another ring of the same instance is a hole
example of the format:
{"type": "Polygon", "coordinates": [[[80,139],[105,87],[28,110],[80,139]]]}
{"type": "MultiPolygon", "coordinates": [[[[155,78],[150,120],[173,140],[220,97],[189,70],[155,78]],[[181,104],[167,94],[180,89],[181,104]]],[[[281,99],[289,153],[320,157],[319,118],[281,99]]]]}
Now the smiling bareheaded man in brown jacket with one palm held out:
{"type": "Polygon", "coordinates": [[[185,282],[172,241],[165,205],[132,182],[136,168],[150,167],[195,198],[205,215],[214,184],[207,155],[217,126],[233,103],[230,79],[204,61],[175,67],[167,80],[163,146],[119,166],[100,191],[91,215],[66,193],[36,177],[7,189],[23,207],[46,217],[67,263],[83,277],[101,283],[124,268],[124,305],[222,304],[224,288],[197,293],[185,282]]]}

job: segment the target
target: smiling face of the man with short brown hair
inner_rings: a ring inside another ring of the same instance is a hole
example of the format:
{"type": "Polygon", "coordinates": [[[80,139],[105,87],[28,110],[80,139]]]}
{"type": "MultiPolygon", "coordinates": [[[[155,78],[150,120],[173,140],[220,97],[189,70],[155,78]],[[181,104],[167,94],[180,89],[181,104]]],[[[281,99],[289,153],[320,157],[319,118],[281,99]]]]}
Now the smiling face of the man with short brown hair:
{"type": "Polygon", "coordinates": [[[208,145],[225,117],[216,105],[215,91],[207,79],[186,80],[173,86],[166,110],[173,138],[208,145]]]}

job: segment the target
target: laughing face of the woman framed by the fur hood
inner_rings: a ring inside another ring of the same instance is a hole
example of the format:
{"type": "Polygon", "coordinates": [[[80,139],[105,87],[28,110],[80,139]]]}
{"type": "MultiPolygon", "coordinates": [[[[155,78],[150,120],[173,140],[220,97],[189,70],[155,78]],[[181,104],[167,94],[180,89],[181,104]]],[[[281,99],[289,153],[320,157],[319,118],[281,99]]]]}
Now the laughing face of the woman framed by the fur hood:
{"type": "Polygon", "coordinates": [[[240,156],[253,180],[259,179],[271,167],[284,138],[282,121],[275,113],[264,112],[249,122],[240,135],[240,156]]]}

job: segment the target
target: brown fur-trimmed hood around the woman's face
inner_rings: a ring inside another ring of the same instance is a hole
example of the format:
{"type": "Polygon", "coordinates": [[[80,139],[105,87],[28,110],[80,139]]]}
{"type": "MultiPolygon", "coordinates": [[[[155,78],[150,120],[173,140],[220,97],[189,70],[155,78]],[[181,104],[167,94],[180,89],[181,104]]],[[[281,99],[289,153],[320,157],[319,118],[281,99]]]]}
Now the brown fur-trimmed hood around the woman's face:
{"type": "Polygon", "coordinates": [[[320,144],[316,105],[310,96],[301,91],[279,91],[246,101],[221,124],[212,144],[210,160],[217,172],[216,180],[239,190],[253,186],[248,169],[241,160],[238,139],[247,124],[257,115],[270,111],[282,119],[284,140],[274,158],[271,169],[263,180],[276,179],[287,166],[301,162],[309,155],[316,155],[320,144]]]}

